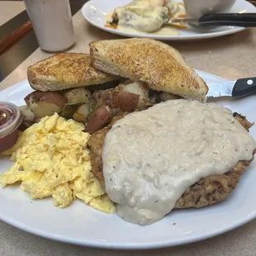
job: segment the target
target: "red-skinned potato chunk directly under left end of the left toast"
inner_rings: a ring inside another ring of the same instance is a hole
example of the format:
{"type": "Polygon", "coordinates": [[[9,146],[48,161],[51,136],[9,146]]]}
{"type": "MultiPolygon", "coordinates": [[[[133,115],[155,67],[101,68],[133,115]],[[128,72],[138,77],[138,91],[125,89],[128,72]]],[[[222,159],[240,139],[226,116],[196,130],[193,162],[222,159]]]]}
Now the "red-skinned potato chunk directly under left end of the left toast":
{"type": "Polygon", "coordinates": [[[25,97],[26,105],[41,118],[59,113],[67,103],[67,99],[58,92],[31,92],[25,97]]]}

